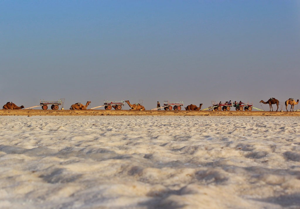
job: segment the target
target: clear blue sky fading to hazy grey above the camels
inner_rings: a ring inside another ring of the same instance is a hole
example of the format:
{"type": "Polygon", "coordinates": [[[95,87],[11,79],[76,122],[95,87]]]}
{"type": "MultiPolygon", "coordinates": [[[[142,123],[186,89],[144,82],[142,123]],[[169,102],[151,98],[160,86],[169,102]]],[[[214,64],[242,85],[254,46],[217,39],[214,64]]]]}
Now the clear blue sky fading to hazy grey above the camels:
{"type": "Polygon", "coordinates": [[[300,1],[2,0],[0,63],[3,105],[261,108],[300,99],[300,1]]]}

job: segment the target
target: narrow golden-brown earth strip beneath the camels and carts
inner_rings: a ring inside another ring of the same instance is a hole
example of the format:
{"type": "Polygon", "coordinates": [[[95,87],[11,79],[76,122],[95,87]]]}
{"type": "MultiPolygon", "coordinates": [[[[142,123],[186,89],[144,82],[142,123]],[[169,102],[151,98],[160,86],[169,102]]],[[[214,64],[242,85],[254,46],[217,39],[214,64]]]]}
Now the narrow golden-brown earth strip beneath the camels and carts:
{"type": "Polygon", "coordinates": [[[0,110],[0,116],[300,116],[300,112],[269,111],[186,111],[186,110],[0,110]]]}

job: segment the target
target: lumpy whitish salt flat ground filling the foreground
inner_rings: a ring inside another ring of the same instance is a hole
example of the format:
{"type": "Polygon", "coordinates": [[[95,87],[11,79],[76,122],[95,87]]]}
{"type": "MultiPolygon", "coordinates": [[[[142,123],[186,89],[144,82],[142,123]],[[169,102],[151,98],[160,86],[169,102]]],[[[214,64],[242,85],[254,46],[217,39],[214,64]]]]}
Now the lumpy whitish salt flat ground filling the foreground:
{"type": "Polygon", "coordinates": [[[0,120],[0,208],[300,208],[300,117],[0,120]]]}

